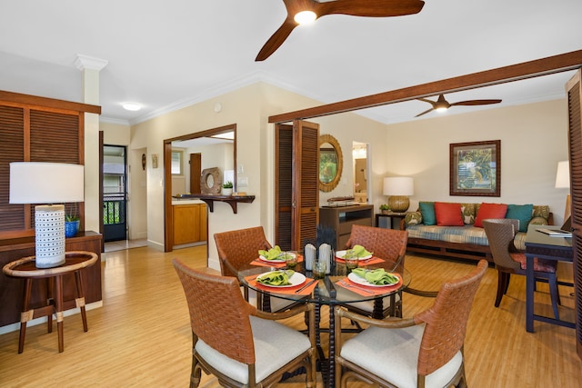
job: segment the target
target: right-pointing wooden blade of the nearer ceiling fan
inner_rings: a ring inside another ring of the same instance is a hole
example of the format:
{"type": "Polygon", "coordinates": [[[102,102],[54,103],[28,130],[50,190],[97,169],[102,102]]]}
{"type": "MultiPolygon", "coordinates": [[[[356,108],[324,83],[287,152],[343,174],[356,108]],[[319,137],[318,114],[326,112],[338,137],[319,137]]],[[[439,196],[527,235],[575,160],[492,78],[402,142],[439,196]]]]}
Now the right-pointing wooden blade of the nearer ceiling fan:
{"type": "Polygon", "coordinates": [[[314,11],[319,17],[334,14],[388,17],[417,14],[424,5],[421,0],[336,0],[317,3],[314,11]]]}

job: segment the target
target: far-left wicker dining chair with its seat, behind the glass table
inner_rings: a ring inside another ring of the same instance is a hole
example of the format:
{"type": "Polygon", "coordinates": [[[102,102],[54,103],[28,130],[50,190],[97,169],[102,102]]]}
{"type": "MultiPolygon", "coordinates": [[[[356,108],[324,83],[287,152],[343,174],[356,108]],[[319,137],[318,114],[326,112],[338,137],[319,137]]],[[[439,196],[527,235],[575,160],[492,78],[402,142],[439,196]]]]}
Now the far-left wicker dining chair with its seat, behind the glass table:
{"type": "MultiPolygon", "coordinates": [[[[220,261],[220,274],[237,278],[237,273],[253,260],[258,258],[258,251],[268,251],[272,248],[266,240],[262,226],[238,229],[215,234],[216,250],[220,261]]],[[[245,300],[248,301],[248,288],[243,287],[245,300]]],[[[275,296],[257,295],[257,305],[262,310],[277,312],[283,311],[296,304],[275,296]]]]}

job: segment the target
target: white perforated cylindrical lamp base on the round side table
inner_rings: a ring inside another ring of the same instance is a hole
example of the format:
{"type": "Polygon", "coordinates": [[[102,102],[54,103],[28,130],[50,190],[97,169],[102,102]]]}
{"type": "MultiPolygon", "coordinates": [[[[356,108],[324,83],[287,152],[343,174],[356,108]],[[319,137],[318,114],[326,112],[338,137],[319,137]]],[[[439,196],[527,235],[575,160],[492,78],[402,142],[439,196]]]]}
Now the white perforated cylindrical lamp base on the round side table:
{"type": "Polygon", "coordinates": [[[35,206],[35,245],[37,268],[65,264],[65,205],[35,206]]]}

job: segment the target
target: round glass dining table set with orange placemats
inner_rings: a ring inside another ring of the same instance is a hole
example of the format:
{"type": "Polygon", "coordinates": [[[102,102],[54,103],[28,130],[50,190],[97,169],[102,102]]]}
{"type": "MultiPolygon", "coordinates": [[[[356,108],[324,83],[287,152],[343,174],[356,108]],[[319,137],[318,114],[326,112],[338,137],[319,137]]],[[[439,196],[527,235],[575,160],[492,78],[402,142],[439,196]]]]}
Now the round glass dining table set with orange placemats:
{"type": "Polygon", "coordinates": [[[395,303],[396,294],[401,293],[412,280],[411,274],[406,271],[404,264],[385,261],[374,257],[369,261],[362,261],[360,267],[369,270],[384,268],[386,272],[396,274],[398,283],[388,286],[367,284],[354,273],[349,273],[346,265],[340,259],[334,261],[329,274],[323,279],[315,279],[311,271],[303,266],[303,261],[296,265],[291,284],[285,287],[266,286],[256,282],[256,278],[274,271],[285,270],[285,264],[269,264],[257,259],[247,264],[237,272],[238,279],[244,286],[256,291],[257,300],[262,301],[263,309],[269,308],[271,297],[285,299],[297,303],[316,304],[316,345],[318,351],[318,365],[324,379],[325,386],[335,386],[335,320],[334,307],[350,303],[373,302],[372,316],[381,317],[383,300],[392,296],[391,303],[395,303]],[[366,263],[367,262],[367,263],[366,263]],[[327,329],[320,327],[321,307],[329,307],[329,324],[327,329]],[[321,346],[321,333],[329,333],[328,354],[325,355],[321,346]]]}

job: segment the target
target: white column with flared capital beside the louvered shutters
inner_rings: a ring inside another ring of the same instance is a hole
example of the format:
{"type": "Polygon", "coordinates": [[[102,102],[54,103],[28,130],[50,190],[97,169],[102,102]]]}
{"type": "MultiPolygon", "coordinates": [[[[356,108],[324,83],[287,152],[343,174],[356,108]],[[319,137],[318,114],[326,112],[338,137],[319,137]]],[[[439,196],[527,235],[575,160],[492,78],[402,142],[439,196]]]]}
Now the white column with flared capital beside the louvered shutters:
{"type": "MultiPolygon", "coordinates": [[[[77,55],[83,77],[83,102],[99,104],[99,72],[105,59],[77,55]]],[[[99,114],[85,113],[85,230],[99,231],[99,114]]]]}

